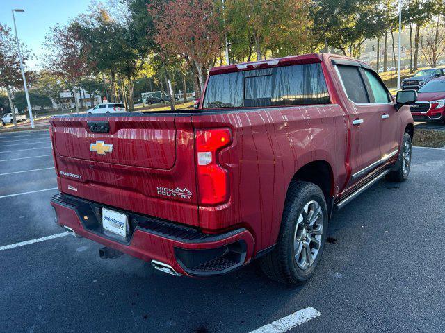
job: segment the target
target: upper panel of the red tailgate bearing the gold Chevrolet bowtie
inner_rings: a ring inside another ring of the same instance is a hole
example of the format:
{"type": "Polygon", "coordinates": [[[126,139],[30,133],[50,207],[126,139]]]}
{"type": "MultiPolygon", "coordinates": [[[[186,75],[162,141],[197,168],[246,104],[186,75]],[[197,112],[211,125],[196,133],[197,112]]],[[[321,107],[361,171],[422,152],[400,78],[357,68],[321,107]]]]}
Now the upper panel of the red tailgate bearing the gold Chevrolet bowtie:
{"type": "Polygon", "coordinates": [[[77,160],[153,169],[171,169],[175,164],[174,118],[170,121],[115,118],[108,121],[111,127],[109,133],[92,132],[95,130],[93,126],[100,126],[103,122],[86,119],[88,118],[72,119],[63,123],[55,121],[54,138],[58,155],[77,160]],[[112,151],[107,151],[110,149],[112,151]]]}

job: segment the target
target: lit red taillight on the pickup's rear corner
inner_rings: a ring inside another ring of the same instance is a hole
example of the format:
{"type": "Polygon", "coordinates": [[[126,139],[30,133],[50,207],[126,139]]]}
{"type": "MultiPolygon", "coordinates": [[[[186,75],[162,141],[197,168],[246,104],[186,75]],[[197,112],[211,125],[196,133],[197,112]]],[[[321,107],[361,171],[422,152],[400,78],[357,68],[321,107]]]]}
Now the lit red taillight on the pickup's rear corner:
{"type": "Polygon", "coordinates": [[[232,143],[232,134],[229,128],[196,130],[195,139],[200,203],[224,203],[228,194],[227,170],[218,164],[218,153],[232,143]]]}

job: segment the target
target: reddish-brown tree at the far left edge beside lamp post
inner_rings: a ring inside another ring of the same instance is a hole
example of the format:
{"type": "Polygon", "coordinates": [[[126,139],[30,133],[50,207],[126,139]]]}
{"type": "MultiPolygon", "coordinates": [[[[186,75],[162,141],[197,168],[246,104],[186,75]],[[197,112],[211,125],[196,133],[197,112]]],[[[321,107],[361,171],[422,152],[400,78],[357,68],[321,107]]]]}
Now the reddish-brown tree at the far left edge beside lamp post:
{"type": "MultiPolygon", "coordinates": [[[[25,62],[29,58],[29,50],[22,46],[22,59],[25,62]]],[[[10,110],[14,109],[13,88],[23,84],[20,71],[20,60],[17,52],[15,38],[8,26],[0,24],[0,87],[6,88],[10,110]]],[[[17,128],[15,112],[13,112],[14,127],[17,128]]]]}

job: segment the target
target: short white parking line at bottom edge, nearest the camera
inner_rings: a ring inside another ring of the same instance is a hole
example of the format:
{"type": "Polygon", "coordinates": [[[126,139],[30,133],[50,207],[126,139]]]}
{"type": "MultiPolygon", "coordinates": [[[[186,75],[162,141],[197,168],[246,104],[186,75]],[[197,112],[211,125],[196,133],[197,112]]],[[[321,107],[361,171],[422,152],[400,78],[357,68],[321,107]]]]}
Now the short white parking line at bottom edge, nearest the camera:
{"type": "Polygon", "coordinates": [[[296,311],[293,314],[289,314],[289,316],[273,321],[263,327],[259,327],[257,330],[250,333],[283,333],[318,316],[321,316],[320,312],[313,307],[307,307],[306,309],[296,311]]]}

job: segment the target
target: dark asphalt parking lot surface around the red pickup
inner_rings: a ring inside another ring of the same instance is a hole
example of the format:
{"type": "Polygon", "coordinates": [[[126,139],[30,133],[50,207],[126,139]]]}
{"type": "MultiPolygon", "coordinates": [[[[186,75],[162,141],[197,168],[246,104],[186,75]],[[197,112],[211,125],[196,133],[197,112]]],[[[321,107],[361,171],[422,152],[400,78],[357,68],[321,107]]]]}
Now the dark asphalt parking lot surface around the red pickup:
{"type": "Polygon", "coordinates": [[[381,181],[337,212],[297,288],[255,264],[193,280],[99,259],[98,244],[54,223],[53,167],[47,131],[0,135],[1,333],[248,333],[309,307],[318,316],[289,332],[445,332],[445,150],[414,148],[407,182],[381,181]]]}

